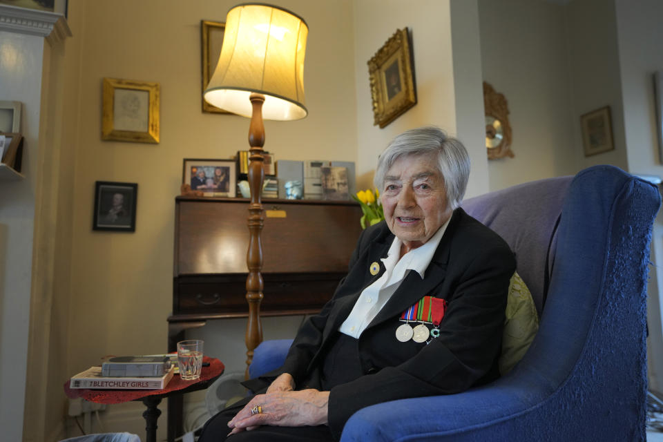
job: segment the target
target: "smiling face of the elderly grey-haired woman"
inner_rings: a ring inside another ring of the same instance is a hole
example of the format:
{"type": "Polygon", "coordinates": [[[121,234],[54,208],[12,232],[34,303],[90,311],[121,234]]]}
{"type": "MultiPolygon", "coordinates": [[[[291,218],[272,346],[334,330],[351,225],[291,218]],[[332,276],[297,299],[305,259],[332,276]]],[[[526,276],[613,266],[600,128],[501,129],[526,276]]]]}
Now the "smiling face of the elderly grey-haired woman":
{"type": "Polygon", "coordinates": [[[398,158],[385,174],[381,200],[390,231],[405,251],[421,246],[451,217],[435,155],[398,158]]]}

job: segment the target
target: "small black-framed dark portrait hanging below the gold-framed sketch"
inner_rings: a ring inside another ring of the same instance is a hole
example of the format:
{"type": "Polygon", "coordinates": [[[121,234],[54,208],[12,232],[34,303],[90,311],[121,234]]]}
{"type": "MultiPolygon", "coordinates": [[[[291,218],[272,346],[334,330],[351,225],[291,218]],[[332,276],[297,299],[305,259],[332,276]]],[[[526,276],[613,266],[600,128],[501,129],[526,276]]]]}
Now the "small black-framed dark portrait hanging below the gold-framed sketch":
{"type": "Polygon", "coordinates": [[[135,231],[137,193],[136,183],[97,181],[92,229],[135,231]]]}

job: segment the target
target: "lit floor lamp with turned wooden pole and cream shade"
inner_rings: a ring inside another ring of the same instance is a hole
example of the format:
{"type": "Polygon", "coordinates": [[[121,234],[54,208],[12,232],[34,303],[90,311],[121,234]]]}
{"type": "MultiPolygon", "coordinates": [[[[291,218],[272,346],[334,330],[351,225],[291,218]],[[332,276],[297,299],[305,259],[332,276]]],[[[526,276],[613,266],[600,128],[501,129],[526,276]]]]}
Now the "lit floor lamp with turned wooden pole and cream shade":
{"type": "Polygon", "coordinates": [[[306,117],[304,56],[309,29],[292,12],[265,4],[242,4],[226,18],[218,64],[204,92],[210,104],[251,117],[249,125],[249,250],[247,251],[247,375],[253,349],[262,341],[262,224],[260,193],[265,180],[263,119],[306,117]]]}

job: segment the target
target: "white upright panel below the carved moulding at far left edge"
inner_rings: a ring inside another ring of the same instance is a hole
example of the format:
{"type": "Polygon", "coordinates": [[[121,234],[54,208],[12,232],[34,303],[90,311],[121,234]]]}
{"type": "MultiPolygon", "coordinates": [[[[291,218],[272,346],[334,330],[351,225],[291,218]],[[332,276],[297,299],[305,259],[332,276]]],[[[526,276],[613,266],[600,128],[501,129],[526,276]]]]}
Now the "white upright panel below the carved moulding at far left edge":
{"type": "Polygon", "coordinates": [[[0,97],[23,104],[19,182],[0,182],[0,428],[20,441],[26,387],[32,234],[44,37],[0,31],[0,97]]]}

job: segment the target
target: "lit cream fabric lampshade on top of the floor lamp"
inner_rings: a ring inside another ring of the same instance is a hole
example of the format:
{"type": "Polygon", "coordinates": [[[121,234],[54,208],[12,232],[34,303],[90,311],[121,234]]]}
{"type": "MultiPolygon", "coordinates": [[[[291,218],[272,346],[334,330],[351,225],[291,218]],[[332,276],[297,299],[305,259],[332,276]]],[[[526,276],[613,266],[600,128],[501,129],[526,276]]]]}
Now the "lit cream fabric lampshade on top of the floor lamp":
{"type": "Polygon", "coordinates": [[[228,12],[219,62],[204,93],[207,102],[251,117],[251,93],[265,95],[264,119],[306,117],[304,57],[309,28],[292,12],[262,4],[228,12]]]}

